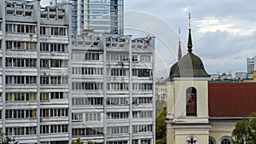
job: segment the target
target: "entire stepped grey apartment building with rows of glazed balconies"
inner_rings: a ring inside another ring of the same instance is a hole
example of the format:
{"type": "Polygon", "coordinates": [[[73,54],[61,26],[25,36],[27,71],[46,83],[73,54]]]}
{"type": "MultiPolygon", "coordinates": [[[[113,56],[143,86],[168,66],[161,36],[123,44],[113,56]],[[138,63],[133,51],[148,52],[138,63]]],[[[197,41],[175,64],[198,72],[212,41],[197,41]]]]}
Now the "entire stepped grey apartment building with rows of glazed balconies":
{"type": "Polygon", "coordinates": [[[72,37],[70,5],[0,6],[3,134],[24,144],[154,143],[154,37],[72,37]]]}

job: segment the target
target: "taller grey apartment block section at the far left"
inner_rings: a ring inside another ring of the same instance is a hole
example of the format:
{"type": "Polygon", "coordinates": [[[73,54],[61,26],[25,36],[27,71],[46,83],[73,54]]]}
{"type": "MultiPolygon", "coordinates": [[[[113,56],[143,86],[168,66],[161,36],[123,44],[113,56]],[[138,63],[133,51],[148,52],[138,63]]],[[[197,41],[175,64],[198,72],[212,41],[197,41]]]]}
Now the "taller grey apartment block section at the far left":
{"type": "Polygon", "coordinates": [[[68,143],[70,7],[13,0],[0,7],[2,133],[26,144],[68,143]]]}

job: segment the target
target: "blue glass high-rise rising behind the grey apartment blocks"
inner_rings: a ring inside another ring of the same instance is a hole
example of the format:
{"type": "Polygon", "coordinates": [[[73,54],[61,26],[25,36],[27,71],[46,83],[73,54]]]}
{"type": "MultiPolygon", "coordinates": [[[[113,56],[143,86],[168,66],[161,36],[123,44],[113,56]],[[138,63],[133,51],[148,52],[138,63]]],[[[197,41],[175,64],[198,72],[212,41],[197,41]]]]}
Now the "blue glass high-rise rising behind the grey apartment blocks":
{"type": "Polygon", "coordinates": [[[50,0],[50,5],[72,5],[72,33],[84,31],[124,34],[124,0],[50,0]]]}

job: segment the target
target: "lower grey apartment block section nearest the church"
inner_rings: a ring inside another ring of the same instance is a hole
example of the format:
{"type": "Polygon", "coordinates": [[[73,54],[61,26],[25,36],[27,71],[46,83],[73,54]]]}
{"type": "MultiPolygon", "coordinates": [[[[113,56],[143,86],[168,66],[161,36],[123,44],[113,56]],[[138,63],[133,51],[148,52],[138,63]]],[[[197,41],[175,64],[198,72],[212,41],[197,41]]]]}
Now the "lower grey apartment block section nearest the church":
{"type": "Polygon", "coordinates": [[[154,37],[72,40],[73,139],[154,143],[154,37]]]}

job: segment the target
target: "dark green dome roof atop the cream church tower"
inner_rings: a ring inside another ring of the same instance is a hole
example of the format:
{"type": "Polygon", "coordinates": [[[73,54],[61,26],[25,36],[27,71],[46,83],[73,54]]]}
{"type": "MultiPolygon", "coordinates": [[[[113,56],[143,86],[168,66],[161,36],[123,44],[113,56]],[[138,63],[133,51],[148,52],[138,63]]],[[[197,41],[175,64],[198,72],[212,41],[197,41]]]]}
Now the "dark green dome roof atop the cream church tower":
{"type": "Polygon", "coordinates": [[[169,77],[209,77],[201,59],[191,51],[175,63],[169,77]]]}

